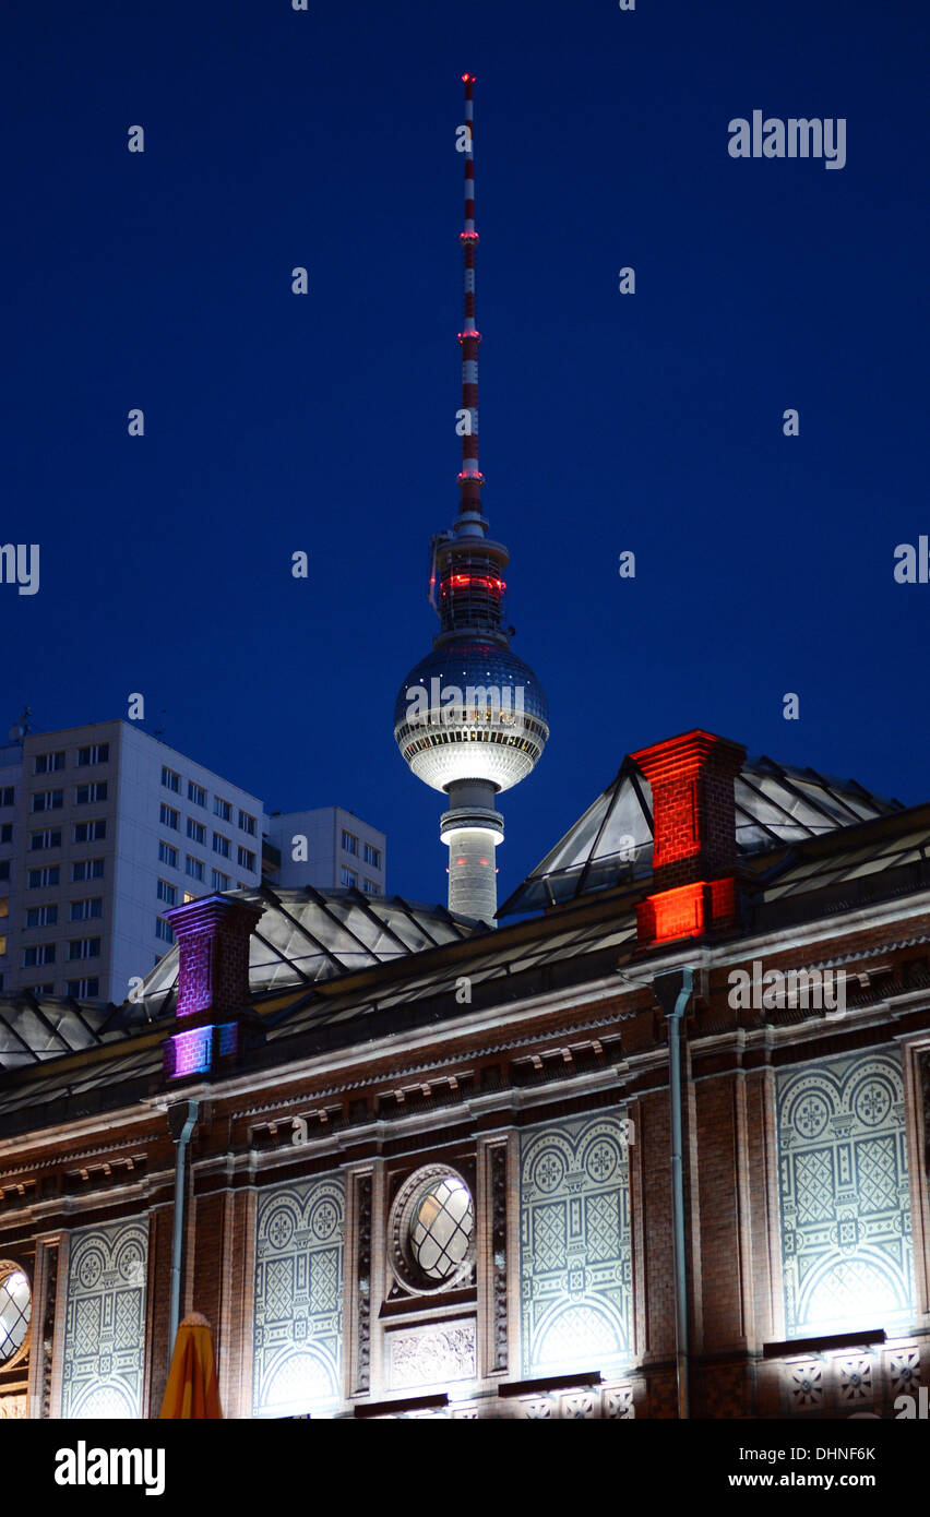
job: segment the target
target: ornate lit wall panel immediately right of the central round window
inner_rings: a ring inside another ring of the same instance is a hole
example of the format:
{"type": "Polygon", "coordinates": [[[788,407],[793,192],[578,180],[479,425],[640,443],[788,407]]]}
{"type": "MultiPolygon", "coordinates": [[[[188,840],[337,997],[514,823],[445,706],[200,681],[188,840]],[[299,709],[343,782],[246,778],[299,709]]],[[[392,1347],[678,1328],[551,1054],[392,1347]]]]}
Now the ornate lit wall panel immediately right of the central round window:
{"type": "Polygon", "coordinates": [[[602,1112],[526,1133],[520,1147],[523,1374],[628,1364],[631,1311],[624,1120],[602,1112]]]}

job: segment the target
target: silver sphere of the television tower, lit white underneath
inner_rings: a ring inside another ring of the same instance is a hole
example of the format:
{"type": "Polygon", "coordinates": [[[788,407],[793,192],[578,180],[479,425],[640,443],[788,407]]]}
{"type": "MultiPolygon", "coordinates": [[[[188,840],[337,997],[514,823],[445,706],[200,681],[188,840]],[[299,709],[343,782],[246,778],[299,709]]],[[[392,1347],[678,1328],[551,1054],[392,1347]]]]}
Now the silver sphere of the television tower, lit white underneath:
{"type": "Polygon", "coordinates": [[[510,790],[533,772],[549,737],[546,696],[529,664],[496,642],[461,637],[408,674],[394,704],[394,742],[434,790],[487,780],[510,790]]]}

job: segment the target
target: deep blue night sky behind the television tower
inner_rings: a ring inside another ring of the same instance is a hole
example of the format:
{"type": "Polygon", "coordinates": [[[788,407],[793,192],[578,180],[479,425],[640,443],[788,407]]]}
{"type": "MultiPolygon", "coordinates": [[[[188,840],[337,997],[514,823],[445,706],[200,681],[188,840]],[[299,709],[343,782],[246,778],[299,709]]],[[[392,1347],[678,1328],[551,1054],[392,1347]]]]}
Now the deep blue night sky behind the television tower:
{"type": "Polygon", "coordinates": [[[916,0],[9,0],[0,539],[42,557],[0,586],[3,736],[143,692],[149,731],[350,807],[391,890],[445,900],[391,711],[458,501],[472,70],[484,502],[552,713],[501,898],[693,725],[927,799],[930,584],[892,578],[930,529],[927,30],[916,0]],[[731,159],[756,108],[845,117],[847,167],[731,159]]]}

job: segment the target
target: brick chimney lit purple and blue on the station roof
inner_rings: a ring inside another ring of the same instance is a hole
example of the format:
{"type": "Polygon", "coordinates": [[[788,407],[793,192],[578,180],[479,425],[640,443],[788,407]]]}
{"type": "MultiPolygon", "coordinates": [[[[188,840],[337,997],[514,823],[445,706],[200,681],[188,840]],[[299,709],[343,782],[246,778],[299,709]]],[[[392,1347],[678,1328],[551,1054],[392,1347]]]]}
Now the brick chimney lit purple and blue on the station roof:
{"type": "Polygon", "coordinates": [[[228,895],[205,895],[164,912],[178,939],[176,1032],[164,1047],[168,1079],[208,1074],[238,1053],[241,1012],[249,1004],[249,941],[262,912],[228,895]]]}

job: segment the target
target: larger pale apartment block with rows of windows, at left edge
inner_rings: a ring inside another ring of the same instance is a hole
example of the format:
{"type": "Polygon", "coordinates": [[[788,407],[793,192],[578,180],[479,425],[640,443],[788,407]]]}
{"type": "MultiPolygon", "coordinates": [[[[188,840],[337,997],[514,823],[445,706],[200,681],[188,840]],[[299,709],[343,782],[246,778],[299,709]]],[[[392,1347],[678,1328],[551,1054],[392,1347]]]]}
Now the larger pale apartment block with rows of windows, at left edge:
{"type": "Polygon", "coordinates": [[[261,883],[264,807],[132,722],[0,749],[0,988],[120,1004],[164,912],[261,883]]]}

